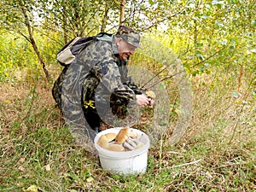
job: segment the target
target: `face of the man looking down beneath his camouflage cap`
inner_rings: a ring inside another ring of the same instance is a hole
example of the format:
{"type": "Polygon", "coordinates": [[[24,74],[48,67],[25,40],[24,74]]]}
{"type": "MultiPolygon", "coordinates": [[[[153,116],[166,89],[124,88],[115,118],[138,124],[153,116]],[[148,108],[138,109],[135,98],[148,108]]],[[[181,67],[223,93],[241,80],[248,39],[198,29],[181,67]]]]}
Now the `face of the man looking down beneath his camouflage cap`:
{"type": "Polygon", "coordinates": [[[132,55],[137,47],[132,44],[128,44],[123,38],[118,38],[117,40],[119,56],[121,60],[129,59],[130,55],[132,55]]]}

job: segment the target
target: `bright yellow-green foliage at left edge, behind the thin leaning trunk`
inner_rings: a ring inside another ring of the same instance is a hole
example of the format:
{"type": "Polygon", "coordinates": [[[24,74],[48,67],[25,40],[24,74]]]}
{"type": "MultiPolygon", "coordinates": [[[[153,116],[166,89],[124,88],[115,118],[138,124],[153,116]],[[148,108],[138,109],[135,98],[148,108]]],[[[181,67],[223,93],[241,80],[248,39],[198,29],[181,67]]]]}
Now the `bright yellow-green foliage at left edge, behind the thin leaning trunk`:
{"type": "MultiPolygon", "coordinates": [[[[54,37],[55,34],[52,35],[54,37]]],[[[42,76],[42,66],[38,63],[38,57],[35,55],[31,44],[24,41],[20,36],[14,36],[2,32],[0,35],[2,44],[0,45],[0,81],[20,80],[26,76],[32,75],[26,73],[30,71],[36,76],[42,76]]],[[[55,64],[55,55],[60,46],[46,36],[36,38],[40,52],[43,54],[44,61],[48,66],[55,64]]]]}

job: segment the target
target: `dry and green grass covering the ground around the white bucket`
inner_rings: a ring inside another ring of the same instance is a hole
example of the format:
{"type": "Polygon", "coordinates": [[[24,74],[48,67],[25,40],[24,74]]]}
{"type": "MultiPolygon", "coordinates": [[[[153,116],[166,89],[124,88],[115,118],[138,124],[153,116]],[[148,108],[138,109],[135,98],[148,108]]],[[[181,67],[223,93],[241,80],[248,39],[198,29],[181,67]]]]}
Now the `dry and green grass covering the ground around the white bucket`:
{"type": "Polygon", "coordinates": [[[255,191],[255,97],[246,79],[232,96],[238,91],[224,78],[193,79],[185,137],[172,147],[165,137],[149,149],[147,172],[127,177],[102,170],[73,141],[52,84],[1,84],[0,191],[255,191]]]}

